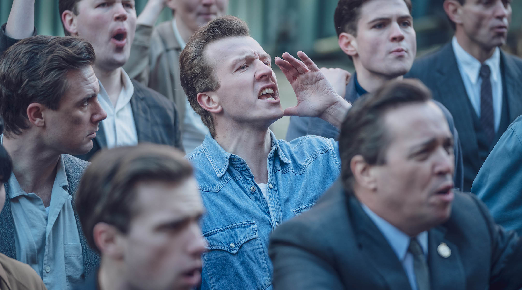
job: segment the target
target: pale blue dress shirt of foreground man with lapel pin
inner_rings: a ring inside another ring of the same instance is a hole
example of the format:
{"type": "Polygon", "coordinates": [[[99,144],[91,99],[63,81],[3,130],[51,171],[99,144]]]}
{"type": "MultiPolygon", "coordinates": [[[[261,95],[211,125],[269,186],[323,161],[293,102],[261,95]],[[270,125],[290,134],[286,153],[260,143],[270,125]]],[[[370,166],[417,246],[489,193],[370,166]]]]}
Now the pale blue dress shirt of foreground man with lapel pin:
{"type": "MultiPolygon", "coordinates": [[[[404,268],[404,271],[408,276],[411,289],[417,290],[417,280],[415,271],[413,270],[413,255],[408,251],[410,246],[410,236],[403,233],[394,225],[385,221],[383,218],[381,218],[381,216],[378,216],[369,207],[367,207],[366,204],[361,203],[361,206],[366,214],[370,216],[370,219],[377,226],[379,231],[381,231],[383,236],[386,238],[388,244],[392,247],[395,254],[397,255],[397,258],[399,258],[399,261],[402,264],[402,268],[404,268]]],[[[428,261],[428,232],[424,231],[418,234],[416,238],[421,245],[424,256],[426,257],[426,261],[428,261]]]]}

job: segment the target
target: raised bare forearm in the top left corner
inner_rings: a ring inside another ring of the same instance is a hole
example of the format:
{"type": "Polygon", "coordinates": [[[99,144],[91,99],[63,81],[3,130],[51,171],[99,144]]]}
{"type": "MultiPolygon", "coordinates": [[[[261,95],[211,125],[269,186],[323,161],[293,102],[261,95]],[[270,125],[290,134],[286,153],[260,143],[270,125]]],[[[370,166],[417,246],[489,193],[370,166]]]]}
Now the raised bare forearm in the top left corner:
{"type": "Polygon", "coordinates": [[[34,31],[34,0],[14,0],[5,33],[14,39],[31,37],[34,31]]]}

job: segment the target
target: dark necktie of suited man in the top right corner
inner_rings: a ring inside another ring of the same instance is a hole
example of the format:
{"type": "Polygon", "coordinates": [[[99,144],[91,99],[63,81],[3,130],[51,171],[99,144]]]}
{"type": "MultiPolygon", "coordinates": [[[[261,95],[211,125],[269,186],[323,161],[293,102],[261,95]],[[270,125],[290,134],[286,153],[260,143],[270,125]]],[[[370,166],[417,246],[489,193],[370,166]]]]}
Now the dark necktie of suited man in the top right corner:
{"type": "Polygon", "coordinates": [[[480,86],[480,124],[489,143],[495,138],[495,113],[493,112],[493,92],[490,80],[491,70],[488,65],[480,68],[482,85],[480,86]]]}

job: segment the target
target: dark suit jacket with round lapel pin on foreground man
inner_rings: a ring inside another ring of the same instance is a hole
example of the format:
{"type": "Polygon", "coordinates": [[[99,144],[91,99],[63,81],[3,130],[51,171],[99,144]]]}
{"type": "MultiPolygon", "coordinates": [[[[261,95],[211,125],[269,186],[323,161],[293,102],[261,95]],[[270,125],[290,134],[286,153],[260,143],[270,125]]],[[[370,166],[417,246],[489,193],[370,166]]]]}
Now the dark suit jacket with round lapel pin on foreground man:
{"type": "MultiPolygon", "coordinates": [[[[519,289],[522,240],[475,196],[455,193],[450,219],[428,232],[432,290],[519,289]],[[446,243],[451,256],[437,247],[446,243]]],[[[311,210],[271,235],[274,290],[411,289],[386,238],[336,182],[311,210]]]]}

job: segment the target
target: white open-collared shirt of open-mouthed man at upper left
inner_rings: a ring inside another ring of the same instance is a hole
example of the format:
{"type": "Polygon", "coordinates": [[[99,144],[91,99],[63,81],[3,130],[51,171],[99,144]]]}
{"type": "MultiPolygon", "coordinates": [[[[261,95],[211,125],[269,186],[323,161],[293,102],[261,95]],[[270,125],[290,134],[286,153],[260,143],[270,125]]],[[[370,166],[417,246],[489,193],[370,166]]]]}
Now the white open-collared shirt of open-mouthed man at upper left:
{"type": "Polygon", "coordinates": [[[125,73],[123,68],[122,81],[123,87],[114,106],[109,98],[109,94],[100,83],[100,92],[98,93],[98,101],[101,107],[107,113],[107,118],[102,120],[107,147],[114,148],[120,146],[134,146],[138,144],[138,133],[136,132],[136,124],[134,123],[134,114],[132,112],[131,98],[134,94],[134,86],[131,78],[125,73]]]}

